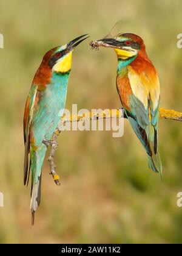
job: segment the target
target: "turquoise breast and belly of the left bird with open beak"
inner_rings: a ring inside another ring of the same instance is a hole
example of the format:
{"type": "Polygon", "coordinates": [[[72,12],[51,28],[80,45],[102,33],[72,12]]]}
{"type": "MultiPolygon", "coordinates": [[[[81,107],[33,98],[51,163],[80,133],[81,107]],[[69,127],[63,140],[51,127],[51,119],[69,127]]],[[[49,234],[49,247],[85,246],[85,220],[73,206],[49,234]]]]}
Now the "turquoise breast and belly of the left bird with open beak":
{"type": "Polygon", "coordinates": [[[50,140],[64,112],[67,96],[69,73],[53,73],[49,85],[42,91],[38,108],[33,117],[33,137],[35,146],[42,140],[50,140]]]}

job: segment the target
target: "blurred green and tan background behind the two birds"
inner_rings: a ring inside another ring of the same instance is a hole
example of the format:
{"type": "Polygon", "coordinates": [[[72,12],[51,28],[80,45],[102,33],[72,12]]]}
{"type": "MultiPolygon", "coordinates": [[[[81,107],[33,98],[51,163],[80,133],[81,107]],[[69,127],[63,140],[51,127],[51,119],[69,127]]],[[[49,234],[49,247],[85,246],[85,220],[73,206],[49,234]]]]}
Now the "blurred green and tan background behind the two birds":
{"type": "Polygon", "coordinates": [[[78,35],[91,37],[76,48],[67,108],[118,108],[116,56],[91,51],[89,41],[106,35],[116,21],[121,32],[138,32],[161,82],[161,106],[182,111],[181,0],[61,1],[1,0],[0,49],[1,243],[181,243],[181,124],[160,120],[164,177],[147,168],[147,156],[125,121],[124,137],[112,132],[62,132],[56,187],[45,161],[42,202],[30,226],[30,188],[23,186],[22,118],[25,100],[44,53],[78,35]],[[128,26],[129,25],[129,26],[128,26]]]}

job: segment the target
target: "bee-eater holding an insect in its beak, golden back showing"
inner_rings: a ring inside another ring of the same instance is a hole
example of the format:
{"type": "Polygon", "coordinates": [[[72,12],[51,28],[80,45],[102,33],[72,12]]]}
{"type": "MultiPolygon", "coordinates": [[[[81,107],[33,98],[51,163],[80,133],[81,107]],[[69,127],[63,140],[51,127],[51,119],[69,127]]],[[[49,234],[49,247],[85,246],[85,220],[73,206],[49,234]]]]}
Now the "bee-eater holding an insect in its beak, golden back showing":
{"type": "Polygon", "coordinates": [[[148,155],[149,168],[162,174],[158,153],[158,115],[160,82],[157,71],[146,54],[141,37],[118,34],[91,42],[92,48],[113,48],[118,57],[116,88],[124,113],[148,155]]]}

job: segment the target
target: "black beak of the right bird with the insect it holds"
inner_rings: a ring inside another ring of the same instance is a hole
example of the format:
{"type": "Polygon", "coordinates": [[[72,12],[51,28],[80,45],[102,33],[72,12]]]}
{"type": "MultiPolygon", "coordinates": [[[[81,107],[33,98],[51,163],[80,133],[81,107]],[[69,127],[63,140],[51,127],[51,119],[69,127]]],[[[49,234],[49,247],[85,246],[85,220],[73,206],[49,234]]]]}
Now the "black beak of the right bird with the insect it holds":
{"type": "Polygon", "coordinates": [[[110,47],[110,48],[121,48],[121,42],[114,38],[103,38],[101,40],[91,41],[90,46],[92,48],[99,48],[99,46],[110,47]]]}

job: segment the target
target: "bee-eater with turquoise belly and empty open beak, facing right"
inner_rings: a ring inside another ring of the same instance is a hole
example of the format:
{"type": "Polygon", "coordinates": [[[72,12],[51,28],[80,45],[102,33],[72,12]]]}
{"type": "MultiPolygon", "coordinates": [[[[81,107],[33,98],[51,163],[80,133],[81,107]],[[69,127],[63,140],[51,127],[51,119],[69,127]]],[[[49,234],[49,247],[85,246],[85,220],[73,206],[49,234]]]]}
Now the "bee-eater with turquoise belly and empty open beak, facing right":
{"type": "Polygon", "coordinates": [[[25,104],[24,185],[29,183],[31,168],[32,224],[41,199],[41,171],[47,151],[46,142],[51,140],[64,112],[73,49],[86,39],[83,38],[85,36],[82,35],[68,44],[53,48],[44,55],[25,104]]]}

